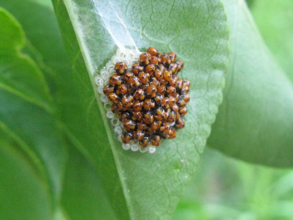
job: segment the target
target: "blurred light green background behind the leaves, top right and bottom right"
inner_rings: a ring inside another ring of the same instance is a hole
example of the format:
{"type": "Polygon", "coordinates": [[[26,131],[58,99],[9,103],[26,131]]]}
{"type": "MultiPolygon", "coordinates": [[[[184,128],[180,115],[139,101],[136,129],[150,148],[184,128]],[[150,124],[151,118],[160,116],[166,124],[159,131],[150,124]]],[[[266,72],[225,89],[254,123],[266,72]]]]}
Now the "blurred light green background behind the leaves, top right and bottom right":
{"type": "MultiPolygon", "coordinates": [[[[293,1],[247,0],[258,29],[293,81],[293,1]]],[[[293,170],[228,158],[206,148],[173,220],[293,219],[293,170]]]]}

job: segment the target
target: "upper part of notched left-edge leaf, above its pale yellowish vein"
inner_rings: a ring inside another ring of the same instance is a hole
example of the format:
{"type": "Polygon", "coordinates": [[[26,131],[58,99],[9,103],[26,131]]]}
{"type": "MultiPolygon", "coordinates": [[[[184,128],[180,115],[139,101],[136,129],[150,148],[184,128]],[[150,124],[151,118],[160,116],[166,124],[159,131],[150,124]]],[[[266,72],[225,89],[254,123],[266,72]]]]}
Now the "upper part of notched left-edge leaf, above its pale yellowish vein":
{"type": "Polygon", "coordinates": [[[23,31],[19,24],[13,18],[10,18],[4,10],[1,11],[0,16],[0,87],[47,111],[52,111],[48,103],[50,102],[48,88],[45,86],[41,73],[36,66],[30,63],[28,57],[19,53],[25,43],[23,31]],[[23,71],[21,67],[29,71],[20,74],[23,71]],[[13,69],[13,71],[9,71],[10,69],[13,69]],[[19,84],[19,82],[22,83],[19,84]]]}

